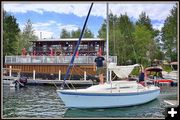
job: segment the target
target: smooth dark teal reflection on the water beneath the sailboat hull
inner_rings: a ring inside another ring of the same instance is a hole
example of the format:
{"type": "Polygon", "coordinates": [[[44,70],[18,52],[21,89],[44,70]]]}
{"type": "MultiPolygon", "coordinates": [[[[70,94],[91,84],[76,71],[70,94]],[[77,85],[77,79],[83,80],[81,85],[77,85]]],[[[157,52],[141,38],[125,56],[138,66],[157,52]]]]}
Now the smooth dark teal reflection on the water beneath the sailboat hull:
{"type": "Polygon", "coordinates": [[[159,109],[158,107],[162,107],[159,104],[159,100],[153,100],[149,103],[131,106],[131,107],[123,107],[123,108],[107,108],[107,109],[68,109],[64,114],[64,117],[152,117],[154,111],[156,111],[156,117],[164,117],[162,112],[164,109],[159,109]],[[159,110],[157,110],[159,109],[159,110]],[[149,114],[150,113],[150,114],[149,114]]]}

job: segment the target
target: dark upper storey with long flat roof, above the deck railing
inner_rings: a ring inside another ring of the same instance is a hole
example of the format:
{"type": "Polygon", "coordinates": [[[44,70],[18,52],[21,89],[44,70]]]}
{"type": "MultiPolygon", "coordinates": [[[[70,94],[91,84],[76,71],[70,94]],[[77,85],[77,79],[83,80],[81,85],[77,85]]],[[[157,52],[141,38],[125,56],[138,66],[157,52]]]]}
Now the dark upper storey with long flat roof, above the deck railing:
{"type": "MultiPolygon", "coordinates": [[[[78,38],[71,39],[43,39],[38,41],[31,41],[33,43],[32,52],[36,56],[64,56],[72,55],[78,38]]],[[[101,49],[102,54],[105,53],[105,40],[99,38],[84,38],[78,49],[79,56],[95,56],[97,51],[101,49]]],[[[33,53],[31,53],[33,54],[33,53]]]]}

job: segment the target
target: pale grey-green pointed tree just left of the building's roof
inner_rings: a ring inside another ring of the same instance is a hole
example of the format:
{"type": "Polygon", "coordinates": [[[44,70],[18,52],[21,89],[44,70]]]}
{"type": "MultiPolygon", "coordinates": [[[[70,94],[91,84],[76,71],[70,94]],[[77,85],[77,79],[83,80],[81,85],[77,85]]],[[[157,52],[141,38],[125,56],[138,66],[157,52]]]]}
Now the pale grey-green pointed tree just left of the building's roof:
{"type": "Polygon", "coordinates": [[[38,37],[34,35],[34,30],[32,27],[31,20],[28,19],[22,33],[22,41],[23,41],[22,47],[26,48],[26,50],[29,51],[30,47],[32,46],[30,41],[35,41],[37,39],[38,37]]]}

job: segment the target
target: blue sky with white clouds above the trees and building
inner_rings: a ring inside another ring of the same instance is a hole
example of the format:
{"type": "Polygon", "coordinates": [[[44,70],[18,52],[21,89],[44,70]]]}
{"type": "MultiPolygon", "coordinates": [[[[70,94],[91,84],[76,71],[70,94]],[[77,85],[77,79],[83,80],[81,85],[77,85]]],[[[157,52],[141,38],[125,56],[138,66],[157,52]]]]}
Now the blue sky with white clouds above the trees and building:
{"type": "MultiPolygon", "coordinates": [[[[151,19],[154,29],[161,30],[165,19],[176,2],[109,2],[109,13],[127,14],[131,21],[138,20],[142,12],[151,19]]],[[[21,30],[28,19],[34,34],[40,38],[59,38],[62,29],[82,29],[91,2],[3,2],[3,9],[15,16],[21,30]]],[[[95,37],[106,19],[106,2],[94,2],[87,27],[95,37]]]]}

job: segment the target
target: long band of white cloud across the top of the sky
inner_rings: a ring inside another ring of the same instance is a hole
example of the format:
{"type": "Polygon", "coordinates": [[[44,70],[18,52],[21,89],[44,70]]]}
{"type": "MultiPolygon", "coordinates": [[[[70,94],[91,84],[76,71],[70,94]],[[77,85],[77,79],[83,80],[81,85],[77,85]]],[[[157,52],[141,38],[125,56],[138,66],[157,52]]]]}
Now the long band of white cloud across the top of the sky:
{"type": "MultiPolygon", "coordinates": [[[[172,6],[175,5],[175,2],[154,2],[154,3],[123,3],[123,2],[111,2],[109,4],[109,9],[113,12],[113,14],[120,15],[125,12],[129,15],[129,17],[138,18],[139,14],[144,11],[149,15],[151,19],[162,20],[165,19],[169,10],[172,9],[172,6]]],[[[64,13],[64,14],[74,14],[76,16],[82,17],[86,16],[89,10],[90,3],[73,3],[73,4],[63,4],[59,3],[41,3],[35,4],[24,2],[23,4],[4,4],[4,9],[8,12],[22,12],[25,13],[27,11],[34,11],[40,14],[43,14],[44,11],[55,12],[55,13],[64,13]]],[[[103,18],[106,17],[106,4],[94,3],[92,8],[91,15],[101,16],[103,18]]]]}

